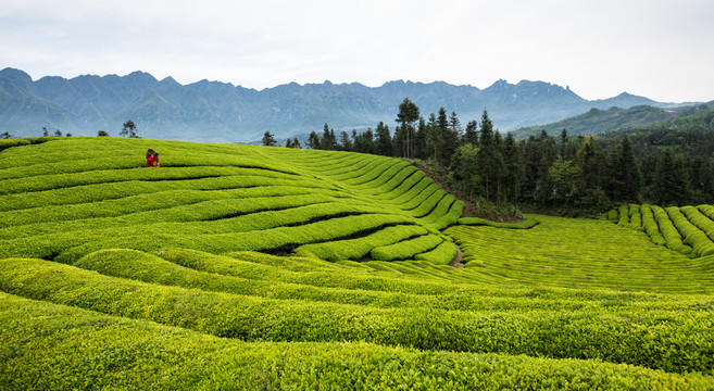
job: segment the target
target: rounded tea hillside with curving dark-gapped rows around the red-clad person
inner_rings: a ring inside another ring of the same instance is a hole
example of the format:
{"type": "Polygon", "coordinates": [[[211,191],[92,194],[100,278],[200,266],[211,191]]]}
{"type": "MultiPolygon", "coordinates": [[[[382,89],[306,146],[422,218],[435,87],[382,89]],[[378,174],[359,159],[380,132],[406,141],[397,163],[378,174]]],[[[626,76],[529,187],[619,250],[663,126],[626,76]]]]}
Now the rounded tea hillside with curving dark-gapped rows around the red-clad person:
{"type": "Polygon", "coordinates": [[[309,255],[350,240],[340,260],[453,258],[455,245],[438,229],[459,219],[463,203],[413,166],[287,152],[103,138],[7,149],[0,257],[72,263],[101,249],[160,247],[309,255]],[[159,169],[142,167],[149,147],[162,152],[159,169]],[[40,157],[27,165],[26,155],[40,157]]]}

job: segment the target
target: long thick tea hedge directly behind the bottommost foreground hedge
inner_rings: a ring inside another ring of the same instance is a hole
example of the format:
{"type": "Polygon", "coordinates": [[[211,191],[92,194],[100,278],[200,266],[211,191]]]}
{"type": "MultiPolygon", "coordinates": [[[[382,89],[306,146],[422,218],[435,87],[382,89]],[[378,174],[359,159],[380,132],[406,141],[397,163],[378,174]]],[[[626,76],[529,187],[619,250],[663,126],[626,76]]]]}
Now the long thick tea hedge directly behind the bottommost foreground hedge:
{"type": "Polygon", "coordinates": [[[0,261],[0,289],[246,341],[371,341],[422,350],[597,358],[710,375],[714,364],[711,313],[371,308],[159,287],[12,258],[0,261]]]}

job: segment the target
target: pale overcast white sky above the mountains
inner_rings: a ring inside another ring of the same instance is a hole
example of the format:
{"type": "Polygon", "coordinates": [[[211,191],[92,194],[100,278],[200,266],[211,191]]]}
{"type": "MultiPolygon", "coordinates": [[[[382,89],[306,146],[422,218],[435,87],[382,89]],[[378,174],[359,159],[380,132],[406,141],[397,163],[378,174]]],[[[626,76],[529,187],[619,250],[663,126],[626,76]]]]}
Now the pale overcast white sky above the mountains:
{"type": "Polygon", "coordinates": [[[714,100],[714,1],[0,0],[0,68],[263,89],[498,79],[714,100]]]}

